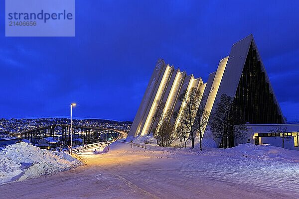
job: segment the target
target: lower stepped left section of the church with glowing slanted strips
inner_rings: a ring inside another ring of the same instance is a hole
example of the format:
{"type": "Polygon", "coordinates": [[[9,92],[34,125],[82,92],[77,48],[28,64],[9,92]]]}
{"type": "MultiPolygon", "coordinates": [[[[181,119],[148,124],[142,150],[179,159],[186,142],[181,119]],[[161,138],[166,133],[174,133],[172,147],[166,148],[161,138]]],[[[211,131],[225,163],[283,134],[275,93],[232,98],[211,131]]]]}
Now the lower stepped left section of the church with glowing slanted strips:
{"type": "Polygon", "coordinates": [[[141,105],[137,111],[132,124],[129,136],[147,136],[156,129],[157,122],[153,117],[157,108],[163,104],[163,113],[170,110],[171,114],[183,105],[178,97],[191,88],[204,90],[205,85],[201,78],[195,79],[193,75],[186,75],[179,69],[165,64],[163,60],[158,60],[149,81],[148,88],[143,97],[141,105]]]}

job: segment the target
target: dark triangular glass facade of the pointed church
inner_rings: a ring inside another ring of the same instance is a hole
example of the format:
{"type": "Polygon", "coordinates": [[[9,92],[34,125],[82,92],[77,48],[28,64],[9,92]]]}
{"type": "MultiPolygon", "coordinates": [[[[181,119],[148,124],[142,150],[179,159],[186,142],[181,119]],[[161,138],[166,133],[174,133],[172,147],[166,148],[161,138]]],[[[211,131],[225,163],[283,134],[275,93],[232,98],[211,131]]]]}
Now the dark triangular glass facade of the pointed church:
{"type": "Polygon", "coordinates": [[[240,111],[240,124],[284,123],[252,43],[236,91],[233,110],[240,111]]]}

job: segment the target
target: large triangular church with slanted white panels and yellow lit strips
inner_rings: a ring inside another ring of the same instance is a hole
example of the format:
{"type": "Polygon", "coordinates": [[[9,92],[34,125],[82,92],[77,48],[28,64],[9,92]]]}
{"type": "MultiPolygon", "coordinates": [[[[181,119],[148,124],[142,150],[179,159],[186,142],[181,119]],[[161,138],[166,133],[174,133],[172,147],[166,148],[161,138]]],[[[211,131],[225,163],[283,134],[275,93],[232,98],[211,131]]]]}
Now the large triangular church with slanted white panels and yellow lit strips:
{"type": "MultiPolygon", "coordinates": [[[[153,116],[158,106],[165,104],[162,114],[167,110],[170,110],[171,114],[176,110],[180,112],[184,104],[177,100],[178,96],[184,91],[186,91],[186,96],[189,95],[188,91],[191,88],[201,91],[205,96],[200,103],[210,112],[210,115],[215,111],[221,95],[226,94],[234,97],[233,110],[240,110],[242,114],[240,124],[256,124],[254,128],[252,127],[253,131],[248,131],[250,136],[247,134],[246,139],[240,141],[235,140],[234,137],[230,138],[234,145],[247,142],[254,143],[252,139],[254,135],[257,135],[255,133],[270,130],[262,128],[262,124],[289,125],[285,124],[286,119],[251,34],[232,46],[230,55],[220,60],[217,71],[209,75],[207,83],[203,83],[201,78],[194,78],[193,75],[187,76],[186,72],[181,72],[174,66],[165,64],[163,60],[158,60],[131,126],[129,136],[137,137],[152,134],[157,125],[157,122],[153,121],[153,116]]],[[[176,123],[177,121],[174,122],[174,125],[176,123]]],[[[295,134],[299,134],[298,131],[299,125],[293,125],[294,137],[295,134]]],[[[207,126],[203,139],[212,135],[213,133],[207,126]]],[[[263,140],[265,139],[261,138],[259,144],[262,144],[263,140]]],[[[214,141],[217,146],[222,143],[221,139],[214,138],[214,141]]],[[[294,147],[298,147],[295,141],[294,147]]],[[[268,139],[267,143],[271,144],[272,141],[268,139]]]]}

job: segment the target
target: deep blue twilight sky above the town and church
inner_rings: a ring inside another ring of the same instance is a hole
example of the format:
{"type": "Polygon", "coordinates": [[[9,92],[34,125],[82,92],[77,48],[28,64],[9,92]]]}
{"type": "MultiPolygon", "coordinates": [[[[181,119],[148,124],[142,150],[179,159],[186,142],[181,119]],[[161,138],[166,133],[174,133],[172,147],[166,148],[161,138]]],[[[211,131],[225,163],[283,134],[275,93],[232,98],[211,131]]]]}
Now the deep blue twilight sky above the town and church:
{"type": "Polygon", "coordinates": [[[76,0],[76,37],[4,37],[0,117],[133,120],[158,58],[207,81],[254,34],[288,121],[299,121],[298,0],[76,0]]]}

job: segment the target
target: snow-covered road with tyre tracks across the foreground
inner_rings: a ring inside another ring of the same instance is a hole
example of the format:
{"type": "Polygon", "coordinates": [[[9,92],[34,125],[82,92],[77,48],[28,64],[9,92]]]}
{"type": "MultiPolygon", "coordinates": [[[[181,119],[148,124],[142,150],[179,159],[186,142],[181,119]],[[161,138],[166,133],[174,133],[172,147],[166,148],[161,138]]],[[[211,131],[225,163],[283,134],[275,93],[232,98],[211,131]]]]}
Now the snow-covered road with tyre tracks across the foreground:
{"type": "Polygon", "coordinates": [[[298,163],[163,150],[118,143],[71,171],[0,186],[0,198],[299,198],[298,163]]]}

